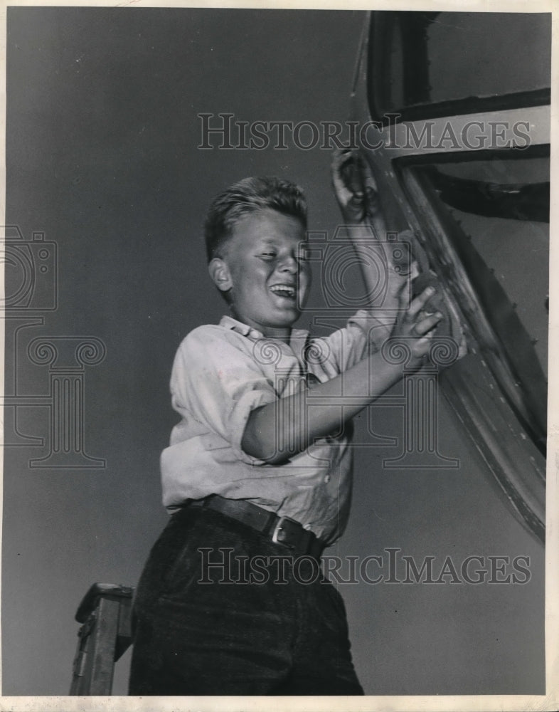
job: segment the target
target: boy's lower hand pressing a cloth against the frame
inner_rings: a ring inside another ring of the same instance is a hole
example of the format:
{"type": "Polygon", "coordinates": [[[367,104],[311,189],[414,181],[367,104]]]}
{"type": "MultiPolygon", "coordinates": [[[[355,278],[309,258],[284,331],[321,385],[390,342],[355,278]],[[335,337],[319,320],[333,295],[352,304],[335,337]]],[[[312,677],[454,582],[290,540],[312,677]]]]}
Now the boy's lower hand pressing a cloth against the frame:
{"type": "Polygon", "coordinates": [[[425,305],[433,295],[435,295],[435,288],[427,287],[419,296],[412,299],[406,308],[403,293],[401,302],[403,313],[396,321],[390,337],[402,337],[410,348],[412,361],[407,364],[408,367],[413,366],[414,362],[415,365],[420,365],[422,358],[428,355],[435,329],[442,319],[440,311],[430,314],[425,310],[425,305]]]}

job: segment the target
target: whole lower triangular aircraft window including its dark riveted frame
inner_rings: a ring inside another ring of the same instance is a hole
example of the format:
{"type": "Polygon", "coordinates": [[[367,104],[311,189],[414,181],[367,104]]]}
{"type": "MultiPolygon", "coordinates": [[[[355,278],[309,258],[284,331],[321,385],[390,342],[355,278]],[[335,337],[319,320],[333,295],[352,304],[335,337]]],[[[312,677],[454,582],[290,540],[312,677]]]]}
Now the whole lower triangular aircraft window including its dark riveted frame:
{"type": "Polygon", "coordinates": [[[519,422],[545,448],[549,157],[403,164],[432,265],[519,422]]]}

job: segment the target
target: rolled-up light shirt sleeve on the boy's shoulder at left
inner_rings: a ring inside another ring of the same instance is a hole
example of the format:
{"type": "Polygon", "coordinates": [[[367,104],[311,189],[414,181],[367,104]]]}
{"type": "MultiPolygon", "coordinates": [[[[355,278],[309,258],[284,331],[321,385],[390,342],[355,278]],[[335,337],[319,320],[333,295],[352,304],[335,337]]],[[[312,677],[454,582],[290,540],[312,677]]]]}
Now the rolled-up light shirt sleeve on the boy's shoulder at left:
{"type": "MultiPolygon", "coordinates": [[[[250,352],[251,342],[206,326],[181,343],[171,372],[171,396],[181,417],[228,443],[240,461],[265,461],[243,451],[241,442],[250,413],[277,400],[273,384],[250,352]]],[[[171,445],[173,439],[171,436],[171,445]]]]}

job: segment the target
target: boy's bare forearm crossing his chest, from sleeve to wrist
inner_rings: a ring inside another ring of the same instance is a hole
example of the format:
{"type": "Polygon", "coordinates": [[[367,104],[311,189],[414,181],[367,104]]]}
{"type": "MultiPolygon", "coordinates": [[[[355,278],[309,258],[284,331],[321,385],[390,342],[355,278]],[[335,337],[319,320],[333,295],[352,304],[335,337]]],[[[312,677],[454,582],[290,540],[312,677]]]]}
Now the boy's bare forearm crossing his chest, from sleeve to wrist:
{"type": "Polygon", "coordinates": [[[401,365],[389,364],[376,353],[314,387],[307,397],[295,394],[255,409],[245,427],[243,450],[267,463],[281,464],[286,452],[292,456],[317,438],[338,431],[342,418],[353,418],[401,376],[401,365]],[[296,443],[289,441],[289,434],[297,434],[296,443]]]}

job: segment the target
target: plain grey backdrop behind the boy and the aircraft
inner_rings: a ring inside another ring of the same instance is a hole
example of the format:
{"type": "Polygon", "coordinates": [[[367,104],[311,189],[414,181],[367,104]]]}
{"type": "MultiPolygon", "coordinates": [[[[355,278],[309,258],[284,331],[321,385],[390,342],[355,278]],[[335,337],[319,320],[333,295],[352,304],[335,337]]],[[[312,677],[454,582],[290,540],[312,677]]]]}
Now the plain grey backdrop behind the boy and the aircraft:
{"type": "MultiPolygon", "coordinates": [[[[246,175],[279,174],[306,189],[311,229],[339,221],[328,151],[201,151],[198,112],[346,119],[364,21],[353,11],[9,9],[6,223],[58,246],[58,308],[21,332],[17,383],[48,392],[47,367],[26,357],[33,338],[100,338],[107,357],[85,372],[85,442],[107,465],[32,469],[48,448],[6,449],[5,695],[68,692],[82,595],[95,581],[134,585],[166,522],[158,461],[176,422],[171,362],[189,330],[223,313],[201,240],[211,197],[246,175]]],[[[8,340],[8,368],[12,351],[8,340]]],[[[343,585],[358,674],[371,694],[542,693],[543,549],[443,400],[440,423],[457,470],[383,471],[394,449],[358,451],[350,525],[330,553],[397,547],[458,565],[526,555],[531,580],[343,585]]],[[[48,441],[46,409],[19,409],[18,427],[48,441]]],[[[400,436],[401,413],[376,409],[375,428],[400,436]]]]}

